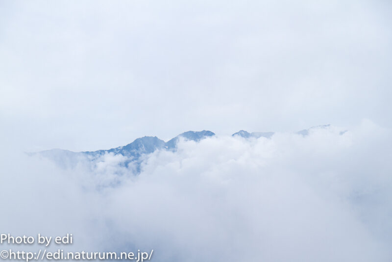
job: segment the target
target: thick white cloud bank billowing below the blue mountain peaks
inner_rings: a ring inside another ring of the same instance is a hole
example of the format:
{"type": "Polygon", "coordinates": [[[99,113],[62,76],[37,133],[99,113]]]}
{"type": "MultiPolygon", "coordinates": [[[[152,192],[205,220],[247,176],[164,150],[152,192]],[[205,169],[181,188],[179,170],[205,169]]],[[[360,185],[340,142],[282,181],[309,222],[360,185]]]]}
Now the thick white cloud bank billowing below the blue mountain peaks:
{"type": "Polygon", "coordinates": [[[76,250],[153,248],[155,261],[389,261],[391,131],[342,130],[182,141],[137,176],[110,155],[64,169],[12,154],[0,230],[73,233],[76,250]]]}

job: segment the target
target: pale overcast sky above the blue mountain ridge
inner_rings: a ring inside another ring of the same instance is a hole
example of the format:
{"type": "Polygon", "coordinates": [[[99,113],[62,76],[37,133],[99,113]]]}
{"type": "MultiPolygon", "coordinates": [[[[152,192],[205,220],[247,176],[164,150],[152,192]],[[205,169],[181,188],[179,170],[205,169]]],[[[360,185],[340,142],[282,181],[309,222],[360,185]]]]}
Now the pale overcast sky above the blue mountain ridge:
{"type": "MultiPolygon", "coordinates": [[[[1,1],[1,139],[391,127],[389,1],[1,1]]],[[[3,142],[5,143],[5,141],[3,142]]]]}

